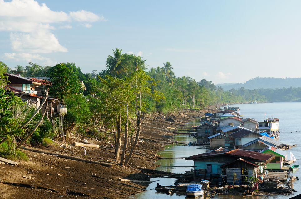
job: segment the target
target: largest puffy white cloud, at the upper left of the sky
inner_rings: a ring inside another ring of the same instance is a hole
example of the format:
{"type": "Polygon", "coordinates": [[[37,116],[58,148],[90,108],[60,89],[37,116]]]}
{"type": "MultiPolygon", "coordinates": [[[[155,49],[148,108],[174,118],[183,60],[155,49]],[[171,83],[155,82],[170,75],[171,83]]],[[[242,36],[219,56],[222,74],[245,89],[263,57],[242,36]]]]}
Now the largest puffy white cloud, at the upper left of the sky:
{"type": "Polygon", "coordinates": [[[17,51],[5,54],[5,57],[10,59],[17,59],[18,52],[24,50],[24,42],[26,52],[36,59],[39,59],[38,56],[34,56],[36,53],[68,52],[52,31],[57,28],[70,29],[72,22],[86,22],[82,25],[90,28],[91,23],[96,21],[106,20],[103,16],[85,10],[69,14],[52,11],[45,3],[39,4],[35,0],[0,0],[0,31],[11,32],[12,49],[17,51]]]}

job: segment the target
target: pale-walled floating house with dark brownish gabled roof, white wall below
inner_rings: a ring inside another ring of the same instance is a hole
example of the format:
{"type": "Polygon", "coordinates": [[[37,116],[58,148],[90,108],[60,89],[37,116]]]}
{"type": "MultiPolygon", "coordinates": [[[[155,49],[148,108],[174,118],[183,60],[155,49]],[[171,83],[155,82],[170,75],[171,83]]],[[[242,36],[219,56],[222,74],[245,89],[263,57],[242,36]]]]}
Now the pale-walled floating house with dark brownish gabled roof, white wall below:
{"type": "Polygon", "coordinates": [[[249,130],[249,129],[240,129],[234,133],[228,134],[229,137],[233,138],[235,145],[244,145],[253,141],[259,137],[262,137],[259,133],[249,130]]]}

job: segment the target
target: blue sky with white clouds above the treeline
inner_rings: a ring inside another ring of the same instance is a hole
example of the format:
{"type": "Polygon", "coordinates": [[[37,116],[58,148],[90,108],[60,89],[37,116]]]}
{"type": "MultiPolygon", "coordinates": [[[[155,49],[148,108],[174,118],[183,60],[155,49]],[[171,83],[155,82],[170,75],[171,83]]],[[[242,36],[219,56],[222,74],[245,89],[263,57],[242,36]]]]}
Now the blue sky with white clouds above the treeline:
{"type": "Polygon", "coordinates": [[[0,0],[0,60],[100,72],[113,49],[215,84],[301,77],[301,1],[0,0]]]}

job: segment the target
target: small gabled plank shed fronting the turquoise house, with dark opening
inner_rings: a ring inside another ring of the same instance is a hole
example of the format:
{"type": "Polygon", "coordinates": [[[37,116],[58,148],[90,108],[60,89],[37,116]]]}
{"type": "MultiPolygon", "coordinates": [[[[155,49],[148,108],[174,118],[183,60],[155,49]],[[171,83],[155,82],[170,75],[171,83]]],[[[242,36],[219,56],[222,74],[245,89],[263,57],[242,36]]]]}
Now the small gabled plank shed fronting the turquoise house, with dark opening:
{"type": "Polygon", "coordinates": [[[256,177],[260,173],[259,165],[242,158],[223,164],[220,167],[222,168],[223,178],[226,179],[227,184],[231,185],[233,185],[234,173],[236,174],[235,184],[242,184],[245,178],[256,177]]]}

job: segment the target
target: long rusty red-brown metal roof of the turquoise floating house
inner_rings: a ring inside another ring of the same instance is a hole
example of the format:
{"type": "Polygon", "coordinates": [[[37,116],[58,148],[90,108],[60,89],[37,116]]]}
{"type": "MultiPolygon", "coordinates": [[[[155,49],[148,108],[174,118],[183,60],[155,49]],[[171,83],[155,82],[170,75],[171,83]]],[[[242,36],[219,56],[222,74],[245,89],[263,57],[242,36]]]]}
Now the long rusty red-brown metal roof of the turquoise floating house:
{"type": "Polygon", "coordinates": [[[234,150],[230,150],[230,151],[218,151],[218,152],[201,153],[198,155],[192,155],[192,156],[186,158],[186,160],[203,159],[203,158],[207,158],[209,156],[220,156],[220,155],[224,155],[224,154],[236,156],[239,158],[241,158],[241,157],[253,158],[253,159],[256,159],[259,161],[264,161],[264,162],[271,161],[275,158],[274,155],[270,155],[270,154],[242,150],[242,149],[234,149],[234,150]]]}

